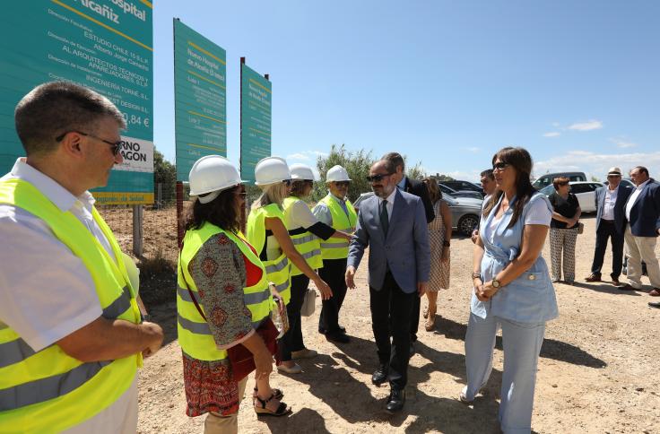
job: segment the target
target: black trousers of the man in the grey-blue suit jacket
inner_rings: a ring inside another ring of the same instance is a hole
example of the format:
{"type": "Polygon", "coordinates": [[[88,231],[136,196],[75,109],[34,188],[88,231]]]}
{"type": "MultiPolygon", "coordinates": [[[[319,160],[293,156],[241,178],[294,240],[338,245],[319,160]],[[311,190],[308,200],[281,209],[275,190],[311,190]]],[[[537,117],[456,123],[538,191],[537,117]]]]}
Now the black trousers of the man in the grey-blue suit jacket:
{"type": "Polygon", "coordinates": [[[389,384],[404,389],[410,360],[410,320],[417,293],[401,291],[391,273],[380,291],[369,287],[371,326],[378,348],[378,360],[389,365],[389,384]],[[390,331],[392,342],[390,342],[390,331]]]}

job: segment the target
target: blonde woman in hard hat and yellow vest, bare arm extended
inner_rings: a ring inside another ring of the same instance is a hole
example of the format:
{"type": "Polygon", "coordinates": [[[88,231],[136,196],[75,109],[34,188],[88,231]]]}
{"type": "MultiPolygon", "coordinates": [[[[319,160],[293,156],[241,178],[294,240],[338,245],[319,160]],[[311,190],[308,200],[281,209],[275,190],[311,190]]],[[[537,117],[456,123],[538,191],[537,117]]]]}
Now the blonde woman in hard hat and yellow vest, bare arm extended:
{"type": "MultiPolygon", "coordinates": [[[[268,279],[274,282],[277,291],[288,305],[287,316],[291,328],[279,342],[282,363],[278,365],[277,369],[289,374],[296,374],[302,369],[293,362],[291,345],[288,342],[293,335],[291,329],[296,326],[291,319],[295,317],[296,311],[300,317],[300,306],[299,298],[296,298],[293,304],[290,302],[291,268],[295,266],[299,273],[304,273],[308,279],[311,279],[321,292],[323,299],[331,297],[332,291],[300,255],[284,225],[282,202],[289,194],[291,184],[291,171],[286,161],[280,157],[267,157],[259,161],[255,167],[255,179],[256,186],[262,189],[263,194],[252,204],[252,209],[247,217],[247,239],[256,247],[256,251],[264,261],[268,279]]],[[[298,326],[300,326],[300,321],[298,326]]],[[[304,348],[300,350],[304,350],[304,348]]]]}

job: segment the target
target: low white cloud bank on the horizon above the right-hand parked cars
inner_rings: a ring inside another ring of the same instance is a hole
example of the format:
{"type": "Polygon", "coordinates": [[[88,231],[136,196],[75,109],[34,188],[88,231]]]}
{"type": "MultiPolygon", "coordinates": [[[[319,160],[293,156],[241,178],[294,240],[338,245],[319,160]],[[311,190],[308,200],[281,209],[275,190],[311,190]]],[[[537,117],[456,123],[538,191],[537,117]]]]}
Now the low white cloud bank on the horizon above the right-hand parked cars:
{"type": "Polygon", "coordinates": [[[607,170],[619,166],[628,173],[635,166],[645,166],[651,177],[660,177],[660,152],[595,153],[572,151],[545,161],[534,163],[534,175],[537,177],[547,172],[583,171],[587,177],[592,175],[604,179],[607,170]]]}

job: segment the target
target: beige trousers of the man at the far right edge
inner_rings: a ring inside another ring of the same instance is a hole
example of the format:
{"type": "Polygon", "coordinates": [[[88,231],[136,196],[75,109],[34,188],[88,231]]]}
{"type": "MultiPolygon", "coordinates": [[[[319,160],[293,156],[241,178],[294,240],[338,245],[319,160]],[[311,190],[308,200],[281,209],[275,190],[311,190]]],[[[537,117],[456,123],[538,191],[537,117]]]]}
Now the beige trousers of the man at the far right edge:
{"type": "Polygon", "coordinates": [[[656,237],[635,237],[626,225],[626,256],[628,256],[628,282],[636,290],[641,289],[642,261],[647,263],[648,280],[654,288],[660,288],[660,266],[656,257],[656,237]]]}

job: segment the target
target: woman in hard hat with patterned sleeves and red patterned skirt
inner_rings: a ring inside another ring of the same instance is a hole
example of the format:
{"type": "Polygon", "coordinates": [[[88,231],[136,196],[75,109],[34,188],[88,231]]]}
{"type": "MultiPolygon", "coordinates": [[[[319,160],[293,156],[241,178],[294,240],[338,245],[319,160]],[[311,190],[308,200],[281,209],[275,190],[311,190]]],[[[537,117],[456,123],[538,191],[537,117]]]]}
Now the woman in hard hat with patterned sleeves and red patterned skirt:
{"type": "Polygon", "coordinates": [[[195,162],[189,181],[196,198],[178,257],[177,290],[187,415],[208,413],[205,432],[238,432],[239,404],[252,369],[255,411],[291,412],[282,391],[269,383],[278,333],[271,320],[273,297],[264,265],[239,231],[245,190],[238,170],[208,155],[195,162]]]}

